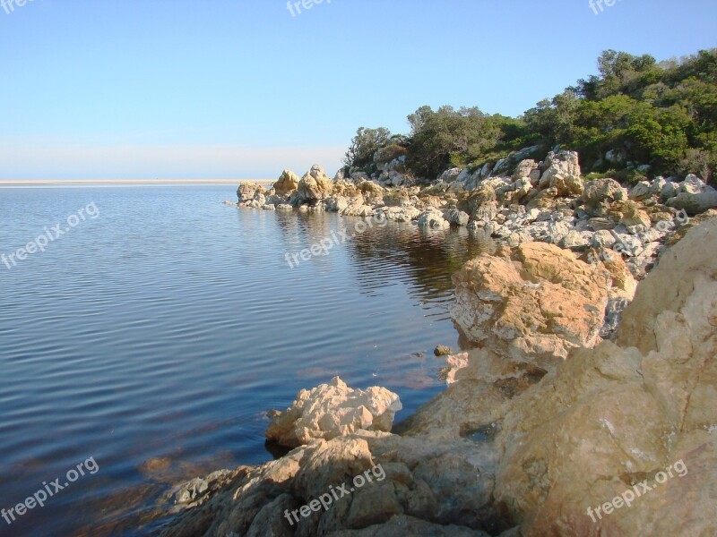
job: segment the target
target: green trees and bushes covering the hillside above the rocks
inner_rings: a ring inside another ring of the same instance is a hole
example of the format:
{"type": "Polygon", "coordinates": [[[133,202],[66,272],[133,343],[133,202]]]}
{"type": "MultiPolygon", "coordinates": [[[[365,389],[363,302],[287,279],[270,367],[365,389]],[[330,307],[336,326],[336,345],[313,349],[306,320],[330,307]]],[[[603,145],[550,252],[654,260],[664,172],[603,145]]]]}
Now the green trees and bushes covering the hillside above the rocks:
{"type": "Polygon", "coordinates": [[[660,63],[608,50],[598,69],[516,118],[478,107],[420,107],[408,116],[408,135],[361,127],[346,153],[346,172],[375,174],[399,158],[407,175],[430,181],[450,167],[560,145],[577,150],[583,170],[596,176],[635,183],[648,173],[695,173],[714,182],[717,48],[660,63]]]}

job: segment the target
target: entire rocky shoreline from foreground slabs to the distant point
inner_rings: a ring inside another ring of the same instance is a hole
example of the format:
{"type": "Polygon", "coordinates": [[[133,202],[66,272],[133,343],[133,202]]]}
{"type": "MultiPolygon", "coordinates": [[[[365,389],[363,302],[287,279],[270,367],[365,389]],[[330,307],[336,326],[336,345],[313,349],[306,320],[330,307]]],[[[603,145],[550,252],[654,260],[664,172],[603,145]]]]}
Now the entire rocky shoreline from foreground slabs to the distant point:
{"type": "Polygon", "coordinates": [[[501,245],[454,276],[471,350],[446,357],[445,392],[392,427],[384,388],[302,390],[267,430],[289,454],[178,486],[162,535],[717,533],[717,192],[522,157],[425,188],[395,166],[239,187],[242,207],[465,225],[501,245]]]}

